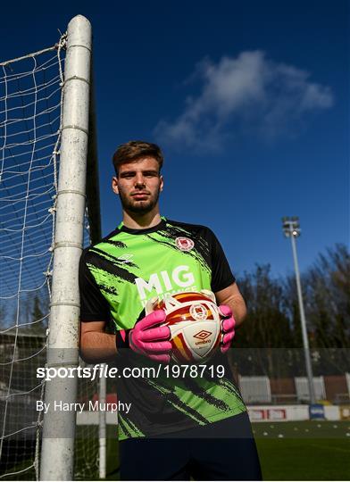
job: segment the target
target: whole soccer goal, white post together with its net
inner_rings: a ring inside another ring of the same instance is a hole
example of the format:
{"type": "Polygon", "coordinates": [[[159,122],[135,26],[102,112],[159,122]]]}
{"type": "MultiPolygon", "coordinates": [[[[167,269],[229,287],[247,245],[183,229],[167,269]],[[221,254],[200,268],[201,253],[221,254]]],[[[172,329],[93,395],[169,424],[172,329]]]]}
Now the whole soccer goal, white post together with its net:
{"type": "Polygon", "coordinates": [[[76,413],[53,410],[98,386],[37,378],[79,365],[79,257],[100,237],[91,25],[0,69],[0,479],[104,477],[105,418],[77,445],[76,413]]]}

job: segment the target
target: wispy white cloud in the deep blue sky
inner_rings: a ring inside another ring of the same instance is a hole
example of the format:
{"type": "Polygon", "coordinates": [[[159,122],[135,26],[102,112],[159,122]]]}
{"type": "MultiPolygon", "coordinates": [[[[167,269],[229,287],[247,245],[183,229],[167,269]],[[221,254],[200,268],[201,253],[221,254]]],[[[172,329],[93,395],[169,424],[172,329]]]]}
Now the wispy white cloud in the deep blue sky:
{"type": "Polygon", "coordinates": [[[205,59],[192,76],[201,82],[199,95],[188,97],[179,117],[161,120],[154,133],[165,144],[217,150],[239,130],[268,139],[295,132],[307,112],[333,104],[331,89],[309,78],[261,51],[218,63],[205,59]]]}

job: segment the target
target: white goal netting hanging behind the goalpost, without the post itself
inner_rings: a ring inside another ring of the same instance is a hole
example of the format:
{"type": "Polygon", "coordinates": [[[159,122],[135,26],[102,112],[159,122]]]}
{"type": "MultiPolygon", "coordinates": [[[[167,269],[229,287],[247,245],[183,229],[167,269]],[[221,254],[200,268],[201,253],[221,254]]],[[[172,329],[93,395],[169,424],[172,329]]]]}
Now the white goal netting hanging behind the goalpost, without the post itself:
{"type": "MultiPolygon", "coordinates": [[[[37,368],[46,364],[52,301],[66,45],[64,34],[52,47],[0,63],[0,478],[4,479],[39,478],[43,412],[37,410],[37,402],[44,400],[45,380],[37,378],[37,368]]],[[[79,220],[83,245],[96,240],[100,229],[93,117],[90,108],[87,208],[79,220]]],[[[91,382],[79,383],[79,398],[97,392],[91,382]]],[[[97,434],[95,426],[79,427],[75,478],[98,478],[97,434]]]]}

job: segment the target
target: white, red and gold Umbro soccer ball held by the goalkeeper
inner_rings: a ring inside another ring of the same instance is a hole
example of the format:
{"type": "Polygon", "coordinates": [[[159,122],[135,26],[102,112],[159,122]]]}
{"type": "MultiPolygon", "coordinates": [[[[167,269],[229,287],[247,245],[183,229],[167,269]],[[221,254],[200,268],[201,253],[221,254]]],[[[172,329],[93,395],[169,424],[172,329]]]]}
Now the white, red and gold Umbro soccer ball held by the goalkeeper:
{"type": "Polygon", "coordinates": [[[177,363],[207,361],[221,344],[221,314],[212,291],[177,293],[150,300],[146,311],[164,310],[171,330],[171,358],[177,363]]]}

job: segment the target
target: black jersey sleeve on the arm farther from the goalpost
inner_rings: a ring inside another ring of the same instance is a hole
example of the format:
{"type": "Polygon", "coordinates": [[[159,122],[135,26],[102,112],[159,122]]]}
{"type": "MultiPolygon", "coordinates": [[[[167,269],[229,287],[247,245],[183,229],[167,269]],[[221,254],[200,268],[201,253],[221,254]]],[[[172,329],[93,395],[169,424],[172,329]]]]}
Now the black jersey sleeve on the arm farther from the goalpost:
{"type": "Polygon", "coordinates": [[[212,291],[216,293],[235,283],[236,278],[229,268],[229,262],[218,238],[211,229],[209,231],[211,237],[212,291]]]}

